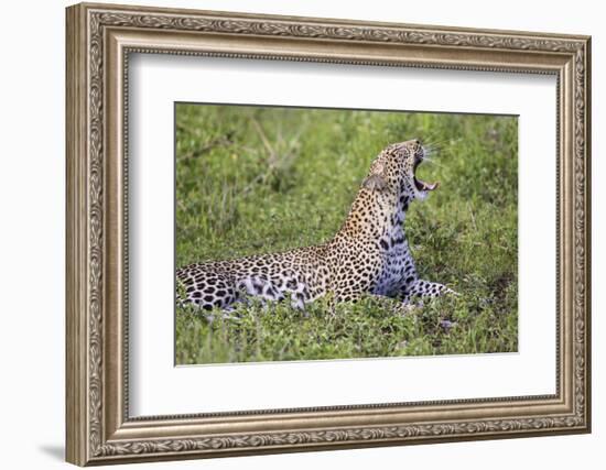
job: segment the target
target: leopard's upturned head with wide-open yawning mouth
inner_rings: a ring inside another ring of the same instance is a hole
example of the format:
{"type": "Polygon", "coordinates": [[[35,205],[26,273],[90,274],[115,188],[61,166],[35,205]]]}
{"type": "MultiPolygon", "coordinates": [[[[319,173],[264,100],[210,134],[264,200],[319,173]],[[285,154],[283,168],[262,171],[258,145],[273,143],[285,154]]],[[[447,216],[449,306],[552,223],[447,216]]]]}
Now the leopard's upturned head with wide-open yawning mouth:
{"type": "Polygon", "coordinates": [[[362,187],[389,192],[399,198],[425,199],[439,183],[426,183],[416,176],[416,168],[425,159],[425,149],[416,139],[392,143],[385,147],[370,165],[362,187]]]}

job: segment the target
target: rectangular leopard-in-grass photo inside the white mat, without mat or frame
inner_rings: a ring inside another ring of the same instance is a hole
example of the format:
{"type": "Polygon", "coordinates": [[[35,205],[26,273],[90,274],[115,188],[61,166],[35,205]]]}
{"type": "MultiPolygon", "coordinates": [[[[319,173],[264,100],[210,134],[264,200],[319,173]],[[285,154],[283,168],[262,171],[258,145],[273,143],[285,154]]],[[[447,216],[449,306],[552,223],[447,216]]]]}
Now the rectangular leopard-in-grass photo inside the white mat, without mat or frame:
{"type": "Polygon", "coordinates": [[[515,352],[518,120],[175,105],[176,363],[515,352]]]}

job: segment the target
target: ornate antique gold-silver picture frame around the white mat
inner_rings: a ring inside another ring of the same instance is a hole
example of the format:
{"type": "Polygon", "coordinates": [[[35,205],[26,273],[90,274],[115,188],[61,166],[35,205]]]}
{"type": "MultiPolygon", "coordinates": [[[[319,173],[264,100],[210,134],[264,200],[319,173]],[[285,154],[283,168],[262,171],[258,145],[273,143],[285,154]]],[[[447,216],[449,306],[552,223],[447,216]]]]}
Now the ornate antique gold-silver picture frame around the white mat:
{"type": "Polygon", "coordinates": [[[67,9],[67,460],[85,466],[588,433],[591,39],[110,4],[67,9]],[[558,357],[549,396],[129,418],[130,52],[553,74],[558,357]]]}

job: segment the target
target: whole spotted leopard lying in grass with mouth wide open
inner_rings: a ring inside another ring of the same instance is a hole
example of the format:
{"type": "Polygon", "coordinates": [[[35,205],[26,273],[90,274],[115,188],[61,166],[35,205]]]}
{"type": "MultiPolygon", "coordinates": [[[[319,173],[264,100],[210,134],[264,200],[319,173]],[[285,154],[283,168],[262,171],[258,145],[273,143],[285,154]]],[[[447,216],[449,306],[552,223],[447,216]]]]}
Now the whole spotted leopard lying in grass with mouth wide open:
{"type": "Polygon", "coordinates": [[[285,300],[304,309],[327,294],[335,302],[357,302],[368,295],[405,305],[456,294],[444,284],[420,278],[404,232],[410,205],[425,200],[439,186],[416,175],[426,154],[419,139],[388,144],[371,162],[332,239],[180,267],[177,299],[204,310],[229,310],[250,297],[263,303],[285,300]]]}

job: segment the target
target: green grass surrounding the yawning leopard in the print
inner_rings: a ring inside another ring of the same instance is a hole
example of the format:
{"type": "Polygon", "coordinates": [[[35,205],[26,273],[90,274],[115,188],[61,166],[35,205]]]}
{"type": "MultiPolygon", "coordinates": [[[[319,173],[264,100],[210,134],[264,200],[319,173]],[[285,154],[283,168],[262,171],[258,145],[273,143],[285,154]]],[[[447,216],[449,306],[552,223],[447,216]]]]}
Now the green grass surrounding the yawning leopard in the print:
{"type": "Polygon", "coordinates": [[[365,298],[305,311],[176,308],[180,364],[516,351],[518,134],[509,117],[177,105],[176,263],[317,244],[388,143],[439,143],[405,231],[420,275],[458,297],[403,313],[365,298]]]}

